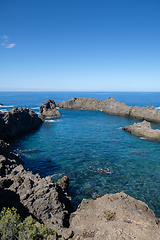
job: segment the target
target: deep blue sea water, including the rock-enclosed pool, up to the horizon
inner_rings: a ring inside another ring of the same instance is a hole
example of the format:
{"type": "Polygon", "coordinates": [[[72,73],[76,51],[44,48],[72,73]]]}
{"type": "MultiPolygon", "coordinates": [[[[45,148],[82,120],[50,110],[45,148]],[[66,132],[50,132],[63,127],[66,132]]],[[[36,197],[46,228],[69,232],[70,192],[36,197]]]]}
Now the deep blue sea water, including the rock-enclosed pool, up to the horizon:
{"type": "MultiPolygon", "coordinates": [[[[160,106],[160,93],[134,92],[0,92],[1,111],[13,106],[38,113],[48,99],[56,103],[72,97],[91,97],[132,106],[160,106]]],[[[123,191],[146,202],[160,217],[160,142],[145,140],[122,130],[138,120],[101,111],[59,109],[62,117],[49,119],[39,130],[11,142],[24,166],[50,175],[67,175],[74,206],[83,198],[123,191]],[[99,169],[103,169],[100,171],[99,169]]],[[[153,128],[160,125],[152,124],[153,128]]]]}

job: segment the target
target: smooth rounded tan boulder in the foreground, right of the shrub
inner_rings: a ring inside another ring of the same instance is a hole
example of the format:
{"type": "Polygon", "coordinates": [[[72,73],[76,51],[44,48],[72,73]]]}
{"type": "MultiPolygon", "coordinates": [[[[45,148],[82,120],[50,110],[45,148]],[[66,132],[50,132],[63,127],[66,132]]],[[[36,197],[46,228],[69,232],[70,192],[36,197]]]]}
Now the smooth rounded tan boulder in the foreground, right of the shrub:
{"type": "Polygon", "coordinates": [[[160,239],[160,222],[147,204],[125,193],[84,199],[72,214],[75,240],[160,239]]]}

